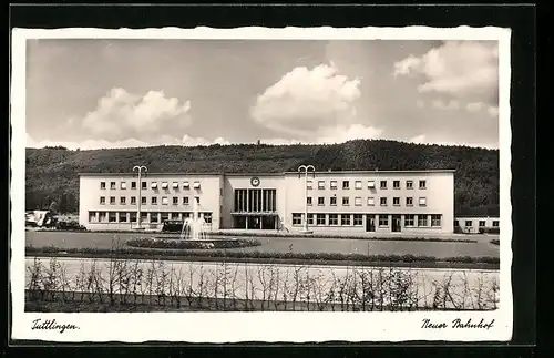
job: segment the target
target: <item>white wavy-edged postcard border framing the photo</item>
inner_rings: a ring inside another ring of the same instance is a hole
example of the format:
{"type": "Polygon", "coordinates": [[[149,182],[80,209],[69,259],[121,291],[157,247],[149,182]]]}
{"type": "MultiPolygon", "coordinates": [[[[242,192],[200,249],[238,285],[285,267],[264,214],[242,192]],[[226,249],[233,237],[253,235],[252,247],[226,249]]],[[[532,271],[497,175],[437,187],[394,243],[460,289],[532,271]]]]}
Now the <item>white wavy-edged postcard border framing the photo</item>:
{"type": "Polygon", "coordinates": [[[512,337],[512,206],[510,126],[511,31],[499,28],[238,28],[238,29],[13,29],[11,82],[11,309],[12,338],[48,341],[505,341],[512,337]],[[24,313],[25,42],[28,39],[305,39],[305,40],[497,40],[500,71],[500,308],[431,313],[24,313]],[[75,330],[32,330],[37,318],[73,324],[75,330]],[[423,329],[423,318],[450,324],[494,319],[490,329],[423,329]]]}

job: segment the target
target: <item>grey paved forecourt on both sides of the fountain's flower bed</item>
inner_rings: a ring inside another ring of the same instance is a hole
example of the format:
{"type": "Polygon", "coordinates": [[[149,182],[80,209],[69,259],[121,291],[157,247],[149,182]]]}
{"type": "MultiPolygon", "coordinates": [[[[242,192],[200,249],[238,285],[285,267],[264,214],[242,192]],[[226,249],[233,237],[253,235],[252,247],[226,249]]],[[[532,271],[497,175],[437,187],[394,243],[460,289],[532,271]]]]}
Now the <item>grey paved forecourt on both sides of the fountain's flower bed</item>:
{"type": "MultiPolygon", "coordinates": [[[[121,242],[138,236],[156,234],[105,234],[105,233],[64,233],[64,232],[25,232],[25,245],[34,247],[55,246],[61,248],[110,248],[116,237],[121,242]]],[[[157,234],[160,235],[160,234],[157,234]]],[[[359,253],[370,255],[428,255],[435,257],[451,256],[492,256],[499,257],[499,246],[489,243],[491,237],[480,237],[478,243],[453,242],[407,242],[371,241],[348,238],[291,238],[263,237],[261,246],[230,250],[254,250],[269,253],[359,253]]]]}

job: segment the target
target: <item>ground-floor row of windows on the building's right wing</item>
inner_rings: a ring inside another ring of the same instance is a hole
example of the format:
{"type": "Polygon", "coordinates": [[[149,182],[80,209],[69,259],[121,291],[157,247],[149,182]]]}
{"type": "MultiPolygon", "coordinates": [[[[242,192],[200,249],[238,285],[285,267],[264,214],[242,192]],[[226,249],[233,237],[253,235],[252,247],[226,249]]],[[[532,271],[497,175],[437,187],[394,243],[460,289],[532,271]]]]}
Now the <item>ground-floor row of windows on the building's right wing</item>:
{"type": "MultiPolygon", "coordinates": [[[[389,215],[390,214],[379,214],[378,223],[381,227],[389,226],[389,215]]],[[[406,214],[404,216],[404,227],[440,227],[442,222],[442,215],[440,214],[406,214]]],[[[294,213],[293,214],[293,225],[302,224],[304,214],[294,213]]],[[[308,225],[328,225],[328,226],[362,226],[363,225],[363,214],[308,214],[308,225]],[[340,223],[340,224],[339,224],[340,223]]]]}

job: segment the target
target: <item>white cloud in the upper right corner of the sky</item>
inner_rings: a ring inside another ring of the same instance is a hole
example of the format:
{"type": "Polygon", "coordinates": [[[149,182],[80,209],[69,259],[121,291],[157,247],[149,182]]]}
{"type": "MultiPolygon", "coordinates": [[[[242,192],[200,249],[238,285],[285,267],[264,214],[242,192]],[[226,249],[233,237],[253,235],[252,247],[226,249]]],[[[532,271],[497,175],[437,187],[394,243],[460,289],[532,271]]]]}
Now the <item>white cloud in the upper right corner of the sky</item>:
{"type": "Polygon", "coordinates": [[[496,105],[499,88],[497,42],[445,41],[422,57],[394,63],[394,76],[423,79],[421,93],[441,93],[496,105]]]}

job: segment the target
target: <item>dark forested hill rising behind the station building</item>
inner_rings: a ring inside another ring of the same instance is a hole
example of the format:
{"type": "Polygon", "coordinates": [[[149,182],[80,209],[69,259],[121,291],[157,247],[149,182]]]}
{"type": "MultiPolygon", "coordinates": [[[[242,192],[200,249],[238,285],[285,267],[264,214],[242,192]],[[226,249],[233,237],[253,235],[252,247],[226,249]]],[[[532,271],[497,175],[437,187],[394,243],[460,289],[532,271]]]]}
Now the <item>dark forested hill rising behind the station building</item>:
{"type": "Polygon", "coordinates": [[[78,173],[131,172],[285,172],[300,164],[317,170],[455,170],[456,215],[497,215],[499,151],[465,146],[357,140],[334,145],[155,146],[94,151],[27,149],[27,208],[62,212],[79,207],[78,173]]]}

